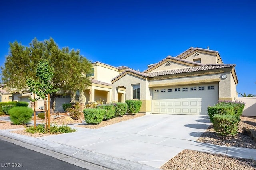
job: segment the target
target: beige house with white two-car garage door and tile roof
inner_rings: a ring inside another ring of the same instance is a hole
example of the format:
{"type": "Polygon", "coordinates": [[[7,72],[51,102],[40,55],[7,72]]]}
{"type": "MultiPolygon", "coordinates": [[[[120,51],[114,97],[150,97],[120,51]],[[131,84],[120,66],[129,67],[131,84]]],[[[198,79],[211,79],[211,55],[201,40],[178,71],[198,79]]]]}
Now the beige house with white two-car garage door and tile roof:
{"type": "Polygon", "coordinates": [[[167,56],[144,72],[126,69],[111,80],[112,102],[118,91],[141,100],[140,112],[207,115],[207,106],[237,97],[235,64],[224,64],[218,51],[193,48],[167,56]]]}

